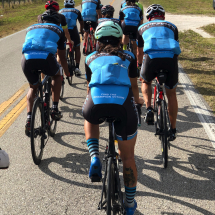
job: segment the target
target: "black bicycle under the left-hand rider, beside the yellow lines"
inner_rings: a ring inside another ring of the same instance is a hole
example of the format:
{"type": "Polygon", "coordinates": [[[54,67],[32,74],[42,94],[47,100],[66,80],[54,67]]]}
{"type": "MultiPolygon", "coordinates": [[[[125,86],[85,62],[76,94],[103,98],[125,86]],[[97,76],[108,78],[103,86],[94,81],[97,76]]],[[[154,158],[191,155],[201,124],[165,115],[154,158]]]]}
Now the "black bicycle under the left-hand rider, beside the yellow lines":
{"type": "Polygon", "coordinates": [[[30,138],[32,158],[34,163],[39,165],[48,136],[54,137],[56,133],[57,121],[50,117],[51,77],[46,75],[41,81],[41,71],[35,72],[40,78],[37,97],[32,109],[30,138]]]}

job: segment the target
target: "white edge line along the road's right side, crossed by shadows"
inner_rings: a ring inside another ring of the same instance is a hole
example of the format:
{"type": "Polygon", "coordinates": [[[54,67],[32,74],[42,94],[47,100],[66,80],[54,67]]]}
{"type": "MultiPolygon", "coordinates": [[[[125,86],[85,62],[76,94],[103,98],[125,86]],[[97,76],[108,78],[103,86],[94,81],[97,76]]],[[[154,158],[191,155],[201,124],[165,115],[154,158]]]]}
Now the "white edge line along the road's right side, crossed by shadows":
{"type": "Polygon", "coordinates": [[[204,127],[205,132],[207,133],[211,141],[211,144],[215,148],[215,123],[211,119],[213,115],[205,106],[206,102],[202,100],[199,93],[194,88],[193,83],[191,82],[187,74],[184,72],[181,64],[179,64],[179,81],[185,90],[190,104],[192,105],[202,126],[204,127]]]}

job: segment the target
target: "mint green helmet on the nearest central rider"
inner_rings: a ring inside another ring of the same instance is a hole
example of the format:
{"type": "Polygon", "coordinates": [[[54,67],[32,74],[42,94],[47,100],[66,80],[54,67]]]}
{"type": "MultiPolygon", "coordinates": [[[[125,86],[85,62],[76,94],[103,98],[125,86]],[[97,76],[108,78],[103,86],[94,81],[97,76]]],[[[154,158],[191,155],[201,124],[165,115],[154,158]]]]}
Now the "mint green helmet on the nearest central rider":
{"type": "Polygon", "coordinates": [[[108,40],[116,40],[116,38],[121,38],[122,35],[122,28],[113,21],[106,21],[99,24],[95,31],[95,38],[100,42],[104,40],[106,40],[106,42],[108,42],[108,40]]]}

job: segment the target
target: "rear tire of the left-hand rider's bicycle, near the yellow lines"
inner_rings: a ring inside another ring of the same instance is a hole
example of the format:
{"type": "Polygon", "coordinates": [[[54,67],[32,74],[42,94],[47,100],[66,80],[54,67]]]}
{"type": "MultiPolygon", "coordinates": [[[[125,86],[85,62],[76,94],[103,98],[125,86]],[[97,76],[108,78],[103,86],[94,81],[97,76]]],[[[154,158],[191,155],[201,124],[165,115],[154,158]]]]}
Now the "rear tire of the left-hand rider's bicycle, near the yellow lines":
{"type": "Polygon", "coordinates": [[[36,165],[39,165],[43,156],[43,149],[44,149],[44,138],[43,138],[43,129],[44,129],[44,110],[42,107],[43,103],[41,102],[41,98],[37,98],[34,101],[33,109],[32,109],[32,116],[31,116],[31,154],[33,161],[36,165]],[[40,117],[40,126],[35,128],[35,118],[37,111],[39,110],[39,117],[40,117]],[[36,138],[39,136],[37,142],[39,146],[39,150],[36,148],[36,138]],[[39,153],[37,153],[39,152],[39,153]]]}

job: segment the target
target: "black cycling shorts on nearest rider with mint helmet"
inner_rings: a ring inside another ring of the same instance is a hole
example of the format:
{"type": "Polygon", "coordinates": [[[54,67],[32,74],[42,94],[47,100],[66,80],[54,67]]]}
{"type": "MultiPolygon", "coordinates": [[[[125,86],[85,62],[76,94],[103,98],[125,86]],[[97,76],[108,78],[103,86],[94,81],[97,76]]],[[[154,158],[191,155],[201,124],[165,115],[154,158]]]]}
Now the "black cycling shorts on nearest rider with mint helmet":
{"type": "Polygon", "coordinates": [[[137,134],[138,113],[131,89],[123,105],[94,105],[89,91],[82,107],[82,112],[88,122],[96,125],[103,123],[102,118],[104,117],[116,117],[118,120],[114,122],[114,128],[118,140],[130,140],[137,134]]]}

